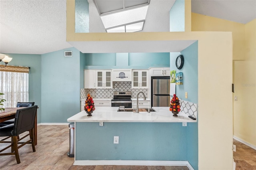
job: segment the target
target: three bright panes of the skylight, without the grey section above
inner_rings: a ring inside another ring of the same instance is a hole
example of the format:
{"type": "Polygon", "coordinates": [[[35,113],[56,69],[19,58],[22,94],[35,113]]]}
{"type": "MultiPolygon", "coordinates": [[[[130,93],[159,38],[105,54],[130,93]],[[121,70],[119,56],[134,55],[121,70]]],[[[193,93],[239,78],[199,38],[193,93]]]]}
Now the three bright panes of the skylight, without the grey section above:
{"type": "Polygon", "coordinates": [[[138,32],[143,29],[148,5],[100,16],[106,32],[138,32]]]}

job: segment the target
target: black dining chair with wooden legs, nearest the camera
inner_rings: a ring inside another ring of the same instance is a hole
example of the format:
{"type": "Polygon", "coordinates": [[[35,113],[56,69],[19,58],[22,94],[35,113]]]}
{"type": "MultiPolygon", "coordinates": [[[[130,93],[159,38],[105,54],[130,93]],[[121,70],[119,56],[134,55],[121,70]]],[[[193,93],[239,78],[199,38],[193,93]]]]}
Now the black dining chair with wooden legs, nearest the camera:
{"type": "Polygon", "coordinates": [[[11,141],[0,141],[0,143],[10,143],[10,145],[0,150],[0,152],[3,152],[4,150],[10,147],[13,148],[13,150],[9,153],[0,153],[0,156],[15,155],[16,161],[19,164],[20,157],[19,157],[18,149],[20,147],[24,146],[25,144],[32,144],[32,150],[33,152],[36,152],[36,148],[34,144],[34,140],[35,140],[34,128],[35,128],[36,110],[37,110],[37,105],[23,108],[23,109],[18,109],[16,111],[14,123],[10,125],[6,125],[4,127],[0,127],[0,136],[11,136],[12,138],[11,141]],[[18,139],[18,135],[25,131],[30,132],[30,139],[25,142],[20,142],[26,136],[18,139]]]}

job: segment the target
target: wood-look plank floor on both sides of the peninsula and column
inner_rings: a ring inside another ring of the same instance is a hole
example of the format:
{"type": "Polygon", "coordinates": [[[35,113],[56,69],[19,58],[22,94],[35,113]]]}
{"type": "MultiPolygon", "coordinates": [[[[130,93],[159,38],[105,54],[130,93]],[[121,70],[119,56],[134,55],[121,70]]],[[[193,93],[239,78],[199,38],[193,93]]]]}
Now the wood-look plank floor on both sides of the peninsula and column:
{"type": "MultiPolygon", "coordinates": [[[[234,140],[236,170],[256,170],[256,150],[234,140]]],[[[0,148],[3,148],[3,144],[0,148]]],[[[15,156],[0,156],[1,170],[188,170],[186,166],[74,166],[69,151],[69,129],[67,125],[38,126],[36,152],[31,144],[19,149],[20,164],[15,156]]],[[[9,152],[7,150],[6,152],[9,152]]]]}

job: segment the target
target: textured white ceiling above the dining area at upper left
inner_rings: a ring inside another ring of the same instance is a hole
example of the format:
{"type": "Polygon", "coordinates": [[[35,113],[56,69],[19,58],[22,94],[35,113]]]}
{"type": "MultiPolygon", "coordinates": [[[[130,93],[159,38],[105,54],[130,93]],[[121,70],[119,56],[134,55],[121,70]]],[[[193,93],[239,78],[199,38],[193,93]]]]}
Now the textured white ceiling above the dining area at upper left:
{"type": "Polygon", "coordinates": [[[66,0],[0,0],[0,52],[43,54],[66,42],[66,0]]]}

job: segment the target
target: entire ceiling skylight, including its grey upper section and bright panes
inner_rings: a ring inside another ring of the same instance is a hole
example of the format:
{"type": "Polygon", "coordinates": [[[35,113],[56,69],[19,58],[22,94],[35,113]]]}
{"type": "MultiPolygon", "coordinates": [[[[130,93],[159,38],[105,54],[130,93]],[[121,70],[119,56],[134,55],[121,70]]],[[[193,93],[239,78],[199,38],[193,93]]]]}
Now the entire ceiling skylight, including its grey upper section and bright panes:
{"type": "Polygon", "coordinates": [[[106,32],[143,30],[150,0],[93,0],[106,32]]]}

